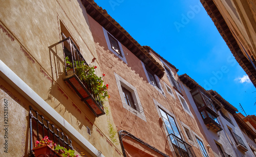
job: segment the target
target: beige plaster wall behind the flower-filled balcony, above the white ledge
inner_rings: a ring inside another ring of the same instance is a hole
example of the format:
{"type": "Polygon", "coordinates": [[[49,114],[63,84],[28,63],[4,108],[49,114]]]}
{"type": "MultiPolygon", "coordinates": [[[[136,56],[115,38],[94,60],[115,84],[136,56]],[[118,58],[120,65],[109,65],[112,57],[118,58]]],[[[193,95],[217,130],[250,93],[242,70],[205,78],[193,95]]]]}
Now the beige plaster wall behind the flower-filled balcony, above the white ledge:
{"type": "MultiPolygon", "coordinates": [[[[95,118],[62,80],[65,75],[61,44],[49,48],[62,39],[61,21],[83,57],[89,63],[94,57],[98,58],[81,2],[26,0],[0,3],[4,8],[0,11],[0,60],[105,156],[120,156],[120,145],[110,139],[109,124],[114,125],[111,112],[95,118]],[[86,131],[87,126],[91,136],[86,131]]],[[[95,65],[99,67],[98,61],[95,65]]],[[[102,75],[100,68],[96,73],[102,75]]],[[[108,106],[106,102],[105,108],[108,106]]],[[[21,123],[20,120],[17,119],[17,123],[21,123]]]]}

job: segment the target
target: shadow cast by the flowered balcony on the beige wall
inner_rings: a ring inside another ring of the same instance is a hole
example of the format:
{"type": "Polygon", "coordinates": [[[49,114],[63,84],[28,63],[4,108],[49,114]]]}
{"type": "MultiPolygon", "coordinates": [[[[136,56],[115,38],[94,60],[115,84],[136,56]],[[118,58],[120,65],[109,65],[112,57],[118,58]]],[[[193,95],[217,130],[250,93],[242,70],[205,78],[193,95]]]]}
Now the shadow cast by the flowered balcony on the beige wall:
{"type": "Polygon", "coordinates": [[[71,123],[73,123],[72,116],[76,117],[77,121],[75,123],[79,126],[79,129],[81,129],[83,126],[92,126],[96,117],[91,112],[90,108],[84,104],[84,102],[82,102],[76,94],[76,96],[74,96],[74,91],[69,88],[69,86],[63,80],[63,77],[66,76],[66,72],[61,45],[62,44],[60,43],[52,48],[51,46],[49,47],[51,75],[54,81],[52,86],[49,88],[48,98],[45,101],[57,100],[59,103],[54,107],[54,109],[59,108],[59,110],[57,110],[58,113],[66,113],[68,111],[70,113],[71,123]],[[74,97],[77,99],[72,101],[71,98],[74,97]],[[81,103],[78,103],[79,101],[81,103]],[[65,107],[61,107],[61,105],[65,107]],[[81,115],[88,116],[90,120],[86,118],[85,121],[84,116],[81,115]]]}

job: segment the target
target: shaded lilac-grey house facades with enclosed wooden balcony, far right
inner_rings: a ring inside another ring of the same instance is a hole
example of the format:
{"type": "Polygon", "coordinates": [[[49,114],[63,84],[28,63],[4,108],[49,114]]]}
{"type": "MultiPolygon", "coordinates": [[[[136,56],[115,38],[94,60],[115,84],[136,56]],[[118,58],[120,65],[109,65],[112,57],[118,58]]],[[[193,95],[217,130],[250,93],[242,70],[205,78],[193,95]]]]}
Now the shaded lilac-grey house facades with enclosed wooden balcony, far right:
{"type": "Polygon", "coordinates": [[[205,91],[188,75],[180,79],[214,156],[254,156],[256,132],[238,120],[237,108],[216,91],[205,91]]]}

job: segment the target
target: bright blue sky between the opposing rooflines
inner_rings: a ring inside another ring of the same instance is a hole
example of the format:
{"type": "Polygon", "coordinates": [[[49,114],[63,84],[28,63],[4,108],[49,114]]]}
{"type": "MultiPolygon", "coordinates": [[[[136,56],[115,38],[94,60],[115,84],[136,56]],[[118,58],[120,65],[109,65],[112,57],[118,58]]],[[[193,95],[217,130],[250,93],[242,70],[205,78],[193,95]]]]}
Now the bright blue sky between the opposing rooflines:
{"type": "MultiPolygon", "coordinates": [[[[95,0],[141,46],[174,64],[206,90],[256,115],[256,89],[232,56],[199,0],[95,0]],[[253,93],[254,92],[254,93],[253,93]]],[[[243,113],[244,114],[244,113],[243,113]]]]}

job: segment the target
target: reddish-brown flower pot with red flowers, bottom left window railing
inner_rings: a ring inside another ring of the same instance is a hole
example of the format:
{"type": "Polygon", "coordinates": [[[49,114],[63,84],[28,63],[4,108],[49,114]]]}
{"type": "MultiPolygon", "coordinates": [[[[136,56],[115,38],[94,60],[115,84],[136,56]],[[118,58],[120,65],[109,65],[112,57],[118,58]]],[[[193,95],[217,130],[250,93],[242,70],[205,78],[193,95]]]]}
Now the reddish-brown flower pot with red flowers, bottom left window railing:
{"type": "Polygon", "coordinates": [[[55,150],[52,150],[50,146],[40,146],[37,148],[32,149],[35,153],[35,157],[46,157],[46,156],[54,156],[54,157],[60,157],[61,155],[57,153],[55,150]]]}

